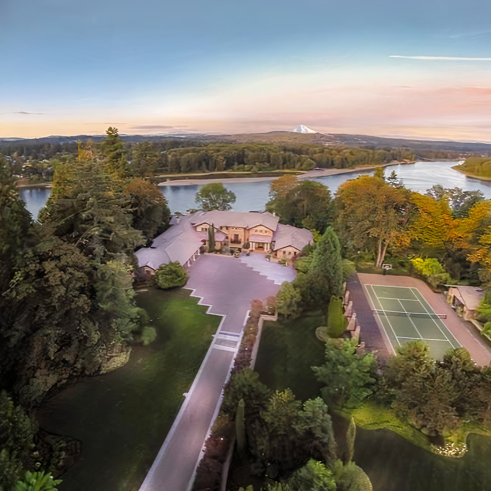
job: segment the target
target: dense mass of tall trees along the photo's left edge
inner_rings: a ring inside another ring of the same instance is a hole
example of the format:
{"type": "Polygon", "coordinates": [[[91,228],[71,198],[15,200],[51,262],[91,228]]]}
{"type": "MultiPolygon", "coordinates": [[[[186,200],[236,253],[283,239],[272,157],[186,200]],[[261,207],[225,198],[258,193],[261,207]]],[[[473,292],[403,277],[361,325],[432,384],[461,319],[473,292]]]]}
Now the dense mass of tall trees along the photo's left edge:
{"type": "Polygon", "coordinates": [[[131,175],[117,130],[54,163],[54,188],[39,222],[0,160],[0,489],[41,462],[63,470],[61,440],[29,418],[75,377],[124,364],[152,333],[136,306],[133,252],[165,230],[169,210],[155,186],[131,175]]]}

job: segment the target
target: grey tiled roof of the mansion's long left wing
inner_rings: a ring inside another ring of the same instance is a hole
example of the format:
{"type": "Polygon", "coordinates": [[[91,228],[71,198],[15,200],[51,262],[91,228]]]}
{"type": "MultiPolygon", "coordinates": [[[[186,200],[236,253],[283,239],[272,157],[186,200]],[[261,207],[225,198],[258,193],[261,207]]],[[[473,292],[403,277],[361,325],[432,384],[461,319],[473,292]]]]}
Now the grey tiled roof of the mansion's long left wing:
{"type": "Polygon", "coordinates": [[[155,237],[151,247],[139,249],[135,253],[139,266],[149,266],[157,270],[161,264],[173,261],[178,261],[181,265],[185,264],[202,245],[203,238],[206,238],[193,229],[192,219],[193,215],[180,217],[175,225],[155,237]]]}

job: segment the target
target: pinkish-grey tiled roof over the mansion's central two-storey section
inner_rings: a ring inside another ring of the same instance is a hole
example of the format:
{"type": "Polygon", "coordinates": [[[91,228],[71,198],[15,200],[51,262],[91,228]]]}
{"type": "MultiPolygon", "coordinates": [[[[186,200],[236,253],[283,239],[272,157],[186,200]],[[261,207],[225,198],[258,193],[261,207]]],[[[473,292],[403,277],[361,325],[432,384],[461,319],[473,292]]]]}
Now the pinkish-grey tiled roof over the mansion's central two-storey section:
{"type": "Polygon", "coordinates": [[[265,211],[262,213],[240,212],[240,211],[220,211],[213,210],[208,212],[197,212],[192,215],[193,226],[201,224],[213,224],[215,227],[241,227],[252,229],[262,225],[270,230],[276,230],[279,217],[265,211]],[[198,215],[199,213],[199,215],[198,215]]]}

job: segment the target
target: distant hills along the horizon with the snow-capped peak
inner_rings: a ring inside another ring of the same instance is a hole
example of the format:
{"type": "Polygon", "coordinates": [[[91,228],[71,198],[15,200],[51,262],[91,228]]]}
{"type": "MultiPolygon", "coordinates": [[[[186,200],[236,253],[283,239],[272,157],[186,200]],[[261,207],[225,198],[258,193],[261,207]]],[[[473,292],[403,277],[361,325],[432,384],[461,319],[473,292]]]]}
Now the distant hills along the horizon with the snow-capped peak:
{"type": "MultiPolygon", "coordinates": [[[[299,125],[302,126],[302,125],[299,125]]],[[[298,127],[297,127],[298,128],[298,127]]],[[[301,128],[303,129],[303,128],[301,128]]],[[[308,129],[308,128],[307,128],[308,129]]],[[[313,131],[313,130],[310,130],[313,131]]],[[[270,131],[267,133],[238,133],[236,135],[217,135],[212,133],[178,132],[162,135],[120,135],[122,140],[128,142],[162,142],[166,140],[187,140],[190,146],[193,142],[199,143],[283,143],[283,144],[321,144],[346,145],[358,148],[410,148],[417,153],[420,151],[451,151],[456,153],[486,154],[491,152],[491,144],[474,142],[430,141],[404,138],[383,138],[369,135],[348,135],[344,133],[317,133],[300,131],[270,131]]],[[[92,139],[101,142],[105,135],[52,135],[42,138],[0,138],[0,146],[31,146],[45,144],[66,144],[82,142],[92,139]]]]}

